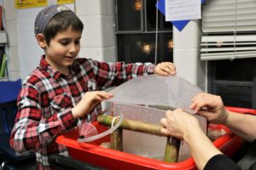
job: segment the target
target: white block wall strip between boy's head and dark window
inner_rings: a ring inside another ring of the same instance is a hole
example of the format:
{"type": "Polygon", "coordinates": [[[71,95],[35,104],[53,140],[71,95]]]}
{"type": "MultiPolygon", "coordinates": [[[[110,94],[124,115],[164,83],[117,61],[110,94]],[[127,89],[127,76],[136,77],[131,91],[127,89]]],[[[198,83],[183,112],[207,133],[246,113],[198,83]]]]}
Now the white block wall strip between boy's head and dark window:
{"type": "Polygon", "coordinates": [[[75,12],[84,23],[79,56],[114,62],[113,0],[76,0],[75,12]]]}

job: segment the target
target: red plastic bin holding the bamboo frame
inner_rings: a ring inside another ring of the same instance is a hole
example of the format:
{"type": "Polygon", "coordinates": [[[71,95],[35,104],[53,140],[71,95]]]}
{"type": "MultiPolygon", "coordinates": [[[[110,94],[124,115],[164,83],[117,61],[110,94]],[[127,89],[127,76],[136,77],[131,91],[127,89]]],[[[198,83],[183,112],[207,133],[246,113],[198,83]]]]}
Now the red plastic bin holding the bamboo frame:
{"type": "MultiPolygon", "coordinates": [[[[252,113],[256,115],[256,111],[252,109],[226,107],[230,111],[236,111],[239,113],[252,113]]],[[[102,126],[95,122],[95,126],[99,133],[107,130],[107,127],[102,126]]],[[[236,136],[234,133],[230,133],[227,127],[223,125],[216,125],[216,128],[224,128],[227,132],[223,136],[219,137],[213,144],[222,150],[227,156],[232,156],[243,144],[243,139],[236,136]]],[[[102,142],[109,142],[109,136],[97,139],[90,143],[79,143],[79,131],[77,128],[64,133],[57,137],[56,142],[67,146],[69,155],[76,160],[84,161],[94,164],[99,167],[106,167],[108,169],[179,169],[189,170],[196,169],[195,162],[192,157],[189,157],[185,161],[179,161],[177,163],[167,163],[165,161],[158,161],[151,158],[136,156],[129,153],[121,152],[118,150],[110,150],[102,148],[99,144],[102,142]]]]}

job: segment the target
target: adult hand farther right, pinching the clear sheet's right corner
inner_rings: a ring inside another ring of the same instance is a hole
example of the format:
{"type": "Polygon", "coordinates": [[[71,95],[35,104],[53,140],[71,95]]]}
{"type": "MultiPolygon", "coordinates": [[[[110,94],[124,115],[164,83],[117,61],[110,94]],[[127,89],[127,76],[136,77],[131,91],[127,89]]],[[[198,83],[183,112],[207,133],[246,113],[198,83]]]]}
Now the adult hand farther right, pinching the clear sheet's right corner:
{"type": "Polygon", "coordinates": [[[212,123],[225,124],[229,117],[221,97],[217,95],[205,93],[195,95],[191,100],[190,109],[195,110],[198,115],[206,117],[207,121],[212,123]]]}

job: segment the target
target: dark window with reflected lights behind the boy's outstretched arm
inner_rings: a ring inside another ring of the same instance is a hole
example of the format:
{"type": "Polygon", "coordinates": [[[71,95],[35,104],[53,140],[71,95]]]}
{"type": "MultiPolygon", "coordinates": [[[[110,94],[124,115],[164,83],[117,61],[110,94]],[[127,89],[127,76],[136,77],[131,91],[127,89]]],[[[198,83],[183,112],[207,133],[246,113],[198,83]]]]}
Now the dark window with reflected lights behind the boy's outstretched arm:
{"type": "Polygon", "coordinates": [[[156,2],[157,0],[115,0],[119,61],[172,61],[172,23],[165,21],[165,16],[155,7],[156,2]]]}

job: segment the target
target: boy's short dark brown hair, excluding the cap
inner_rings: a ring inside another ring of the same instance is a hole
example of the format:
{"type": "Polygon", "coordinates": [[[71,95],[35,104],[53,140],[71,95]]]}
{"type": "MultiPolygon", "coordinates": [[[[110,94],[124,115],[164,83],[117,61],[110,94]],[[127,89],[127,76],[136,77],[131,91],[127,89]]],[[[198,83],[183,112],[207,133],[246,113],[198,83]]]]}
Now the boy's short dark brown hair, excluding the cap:
{"type": "Polygon", "coordinates": [[[46,43],[49,45],[49,41],[56,36],[60,31],[66,31],[71,26],[73,31],[83,31],[84,25],[79,17],[72,11],[63,11],[49,20],[45,26],[43,34],[46,43]]]}

